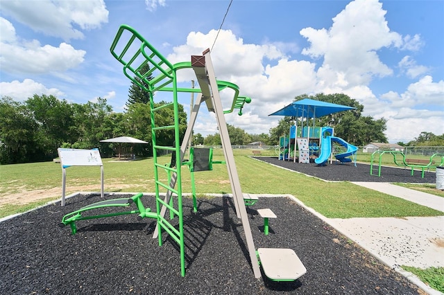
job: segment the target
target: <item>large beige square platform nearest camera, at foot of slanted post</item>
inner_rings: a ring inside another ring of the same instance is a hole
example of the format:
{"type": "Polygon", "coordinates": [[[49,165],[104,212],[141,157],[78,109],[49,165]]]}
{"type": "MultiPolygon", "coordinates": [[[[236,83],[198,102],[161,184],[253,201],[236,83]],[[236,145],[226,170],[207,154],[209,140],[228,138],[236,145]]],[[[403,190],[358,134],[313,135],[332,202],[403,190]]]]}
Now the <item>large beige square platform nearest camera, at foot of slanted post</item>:
{"type": "Polygon", "coordinates": [[[307,272],[292,249],[257,249],[264,274],[271,280],[296,280],[307,272]]]}

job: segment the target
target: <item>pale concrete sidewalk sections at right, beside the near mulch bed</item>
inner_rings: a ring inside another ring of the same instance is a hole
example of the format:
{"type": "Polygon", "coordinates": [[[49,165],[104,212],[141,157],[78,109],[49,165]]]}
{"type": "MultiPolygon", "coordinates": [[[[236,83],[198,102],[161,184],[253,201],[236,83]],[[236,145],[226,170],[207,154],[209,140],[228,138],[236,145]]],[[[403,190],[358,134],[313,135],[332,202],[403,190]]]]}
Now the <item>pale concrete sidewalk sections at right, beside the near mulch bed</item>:
{"type": "MultiPolygon", "coordinates": [[[[436,217],[327,218],[343,235],[357,242],[386,265],[444,267],[444,198],[389,183],[353,182],[372,190],[442,211],[436,217]]],[[[421,282],[413,278],[413,283],[421,282]],[[415,281],[416,280],[416,281],[415,281]]],[[[422,283],[429,294],[441,294],[422,283]]]]}

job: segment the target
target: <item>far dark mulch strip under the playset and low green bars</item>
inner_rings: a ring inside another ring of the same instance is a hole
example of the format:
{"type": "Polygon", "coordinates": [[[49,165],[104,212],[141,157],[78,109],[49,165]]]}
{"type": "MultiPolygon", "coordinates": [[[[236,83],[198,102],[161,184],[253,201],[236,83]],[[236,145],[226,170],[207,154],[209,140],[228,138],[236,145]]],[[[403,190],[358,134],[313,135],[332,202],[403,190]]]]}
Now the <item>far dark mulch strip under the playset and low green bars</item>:
{"type": "Polygon", "coordinates": [[[391,168],[383,166],[381,176],[378,177],[378,166],[373,166],[373,175],[370,175],[370,165],[357,163],[333,162],[326,166],[318,166],[316,163],[294,163],[293,161],[281,161],[277,157],[253,157],[266,163],[287,168],[289,170],[304,173],[328,181],[364,181],[364,182],[402,182],[412,184],[435,184],[436,173],[424,172],[421,177],[420,170],[415,170],[411,176],[410,168],[391,168]]]}

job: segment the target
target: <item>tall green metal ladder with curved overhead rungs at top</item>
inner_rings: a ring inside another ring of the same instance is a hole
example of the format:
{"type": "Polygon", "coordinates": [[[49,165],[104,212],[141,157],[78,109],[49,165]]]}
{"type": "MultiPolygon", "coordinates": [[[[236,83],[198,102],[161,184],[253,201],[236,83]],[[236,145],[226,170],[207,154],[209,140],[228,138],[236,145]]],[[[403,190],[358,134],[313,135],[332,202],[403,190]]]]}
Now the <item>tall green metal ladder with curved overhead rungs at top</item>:
{"type": "Polygon", "coordinates": [[[181,275],[185,276],[185,242],[183,231],[183,213],[182,213],[182,181],[181,165],[185,148],[180,147],[180,128],[179,128],[179,92],[196,92],[196,89],[181,89],[177,84],[177,71],[191,67],[190,62],[181,62],[171,64],[162,56],[144,37],[139,35],[130,26],[122,25],[117,31],[117,35],[110,48],[112,55],[123,64],[123,73],[141,89],[147,91],[150,96],[151,107],[151,136],[153,142],[153,160],[155,177],[155,199],[157,211],[158,241],[162,246],[162,231],[166,231],[180,247],[180,269],[181,275]],[[142,69],[149,70],[143,72],[142,69]],[[154,77],[151,80],[150,77],[154,77]],[[138,78],[138,79],[137,79],[138,78]],[[172,94],[172,100],[164,105],[156,105],[154,94],[157,91],[168,91],[172,94]],[[173,119],[170,122],[159,124],[157,119],[165,108],[173,109],[173,119]],[[173,143],[169,145],[160,145],[158,142],[163,134],[173,134],[173,143]],[[172,145],[171,145],[172,144],[172,145]],[[165,151],[175,152],[176,166],[166,167],[159,163],[158,157],[165,151]],[[171,181],[166,183],[162,181],[165,177],[164,170],[171,174],[171,181]],[[161,176],[162,174],[162,176],[161,176]],[[175,188],[177,184],[177,188],[175,188]],[[162,194],[167,190],[167,196],[162,198],[162,194]],[[176,202],[173,202],[176,197],[176,202]],[[169,210],[171,215],[178,217],[178,226],[174,226],[164,217],[164,212],[169,210]]]}

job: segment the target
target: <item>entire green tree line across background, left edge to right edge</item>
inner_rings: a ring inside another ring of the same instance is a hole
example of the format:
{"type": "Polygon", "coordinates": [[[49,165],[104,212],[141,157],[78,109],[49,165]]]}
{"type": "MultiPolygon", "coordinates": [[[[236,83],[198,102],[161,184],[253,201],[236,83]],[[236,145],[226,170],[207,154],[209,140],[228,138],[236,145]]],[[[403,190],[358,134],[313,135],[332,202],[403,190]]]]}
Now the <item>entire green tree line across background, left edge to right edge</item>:
{"type": "MultiPolygon", "coordinates": [[[[133,136],[148,142],[134,145],[131,151],[142,157],[152,155],[151,116],[149,97],[140,93],[137,88],[130,88],[130,98],[126,111],[116,113],[104,98],[85,104],[59,100],[55,96],[38,96],[17,102],[9,97],[0,100],[0,163],[26,163],[35,161],[51,161],[58,157],[58,147],[91,149],[99,147],[103,157],[111,157],[117,144],[103,144],[101,140],[117,136],[133,136]]],[[[340,105],[356,107],[353,111],[343,111],[316,118],[316,126],[334,127],[334,134],[357,146],[370,142],[386,143],[384,135],[386,120],[375,120],[370,116],[361,116],[364,106],[345,94],[323,93],[316,96],[296,96],[295,100],[312,98],[333,102],[340,105]]],[[[166,102],[157,102],[160,106],[166,102]]],[[[156,120],[162,125],[169,125],[167,120],[173,118],[171,108],[163,108],[156,120]]],[[[187,114],[182,105],[180,112],[180,134],[183,136],[187,128],[187,114]]],[[[228,125],[228,133],[232,145],[247,145],[262,142],[263,145],[276,145],[280,136],[288,134],[290,125],[298,118],[284,117],[278,126],[271,127],[268,134],[248,134],[239,127],[228,125]]],[[[311,119],[310,119],[311,120],[311,119]]],[[[309,121],[312,125],[312,121],[309,121]]],[[[172,145],[170,132],[158,136],[160,145],[172,145]]],[[[218,133],[202,136],[193,134],[193,145],[221,145],[218,133]]],[[[435,136],[422,132],[418,138],[402,145],[444,145],[444,134],[435,136]]]]}

